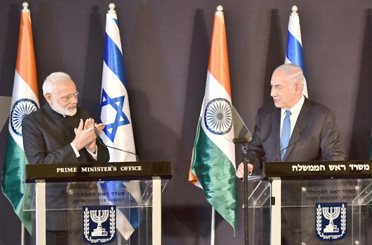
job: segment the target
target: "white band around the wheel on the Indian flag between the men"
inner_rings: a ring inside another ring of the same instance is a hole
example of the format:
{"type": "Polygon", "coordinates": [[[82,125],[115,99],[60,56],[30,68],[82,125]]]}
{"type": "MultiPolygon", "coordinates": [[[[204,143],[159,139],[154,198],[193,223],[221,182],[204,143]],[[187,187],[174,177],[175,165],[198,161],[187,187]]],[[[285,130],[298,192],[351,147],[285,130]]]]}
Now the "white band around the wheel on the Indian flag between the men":
{"type": "Polygon", "coordinates": [[[207,82],[205,87],[205,94],[203,99],[203,105],[200,112],[201,120],[201,126],[204,130],[204,132],[207,134],[207,136],[213,141],[213,143],[220,148],[220,150],[223,152],[223,154],[226,155],[226,157],[230,160],[234,168],[235,166],[235,145],[232,143],[232,139],[234,138],[234,126],[232,125],[231,130],[223,135],[218,135],[211,133],[205,126],[204,123],[204,111],[206,108],[206,105],[209,101],[215,98],[224,98],[231,103],[231,99],[229,94],[226,92],[225,88],[221,85],[220,82],[218,82],[212,74],[207,73],[207,82]]]}

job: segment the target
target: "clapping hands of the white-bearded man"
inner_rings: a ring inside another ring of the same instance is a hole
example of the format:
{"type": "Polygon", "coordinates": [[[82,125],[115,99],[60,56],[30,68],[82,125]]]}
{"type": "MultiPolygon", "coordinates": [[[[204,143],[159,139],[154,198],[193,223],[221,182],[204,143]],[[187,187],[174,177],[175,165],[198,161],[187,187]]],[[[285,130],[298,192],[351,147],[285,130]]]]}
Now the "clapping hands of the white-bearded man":
{"type": "Polygon", "coordinates": [[[75,138],[73,140],[76,150],[80,151],[82,148],[86,148],[90,152],[96,151],[96,133],[94,127],[97,128],[98,133],[101,134],[105,125],[103,123],[95,123],[94,119],[88,118],[83,123],[80,119],[79,126],[74,128],[75,138]]]}

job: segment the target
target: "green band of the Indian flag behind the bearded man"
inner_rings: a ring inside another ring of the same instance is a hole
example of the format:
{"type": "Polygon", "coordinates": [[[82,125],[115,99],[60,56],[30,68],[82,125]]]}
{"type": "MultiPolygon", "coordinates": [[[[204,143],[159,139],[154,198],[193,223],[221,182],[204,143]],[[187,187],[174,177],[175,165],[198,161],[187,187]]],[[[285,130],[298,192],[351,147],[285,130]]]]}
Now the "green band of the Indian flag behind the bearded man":
{"type": "Polygon", "coordinates": [[[23,193],[25,184],[25,164],[27,163],[24,151],[14,141],[8,133],[6,142],[5,160],[2,168],[2,192],[13,205],[15,213],[18,215],[27,231],[31,234],[32,221],[31,211],[23,211],[23,193]]]}

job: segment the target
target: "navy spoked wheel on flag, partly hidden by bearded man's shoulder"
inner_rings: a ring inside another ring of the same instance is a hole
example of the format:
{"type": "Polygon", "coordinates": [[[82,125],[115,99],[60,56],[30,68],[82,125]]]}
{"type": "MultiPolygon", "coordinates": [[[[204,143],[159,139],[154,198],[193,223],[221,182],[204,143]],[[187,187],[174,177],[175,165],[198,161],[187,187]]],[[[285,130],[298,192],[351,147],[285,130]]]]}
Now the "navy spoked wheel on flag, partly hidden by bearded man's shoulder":
{"type": "Polygon", "coordinates": [[[22,136],[22,120],[24,117],[37,110],[37,104],[31,99],[20,99],[14,103],[10,112],[10,126],[13,132],[22,136]]]}

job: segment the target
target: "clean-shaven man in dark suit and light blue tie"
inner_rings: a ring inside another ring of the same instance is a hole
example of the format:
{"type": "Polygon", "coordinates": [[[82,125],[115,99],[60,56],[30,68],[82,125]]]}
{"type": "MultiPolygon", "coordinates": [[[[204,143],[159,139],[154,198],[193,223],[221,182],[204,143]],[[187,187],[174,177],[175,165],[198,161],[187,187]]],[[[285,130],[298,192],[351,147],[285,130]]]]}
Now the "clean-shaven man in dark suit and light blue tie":
{"type": "MultiPolygon", "coordinates": [[[[274,102],[258,110],[252,141],[248,143],[250,173],[259,175],[263,162],[345,160],[335,114],[305,98],[303,81],[301,68],[294,64],[281,65],[273,72],[270,95],[274,102]]],[[[237,177],[243,177],[243,168],[240,163],[237,177]]],[[[296,223],[301,215],[292,211],[283,209],[282,232],[287,242],[282,245],[301,244],[301,225],[296,223]]]]}

